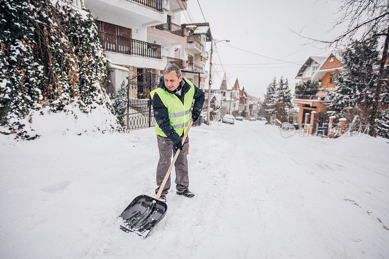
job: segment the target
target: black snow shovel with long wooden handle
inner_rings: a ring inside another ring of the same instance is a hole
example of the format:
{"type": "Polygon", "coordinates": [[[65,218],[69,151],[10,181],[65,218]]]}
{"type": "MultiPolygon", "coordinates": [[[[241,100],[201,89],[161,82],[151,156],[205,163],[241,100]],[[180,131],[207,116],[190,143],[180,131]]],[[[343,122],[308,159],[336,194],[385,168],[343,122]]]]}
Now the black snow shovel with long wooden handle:
{"type": "MultiPolygon", "coordinates": [[[[189,122],[188,129],[185,132],[184,137],[182,138],[182,145],[186,137],[188,136],[189,129],[191,128],[193,121],[189,122]]],[[[182,151],[186,152],[186,151],[182,151]]],[[[176,155],[173,158],[172,163],[165,175],[165,178],[162,181],[161,186],[159,187],[157,196],[155,198],[140,195],[136,197],[120,214],[119,218],[122,219],[122,224],[120,228],[125,232],[134,232],[141,236],[143,239],[147,237],[148,233],[157,224],[163,219],[166,214],[167,205],[164,202],[159,201],[159,196],[162,193],[163,188],[169,178],[170,172],[173,169],[174,163],[177,160],[179,152],[176,152],[176,155]]]]}

